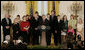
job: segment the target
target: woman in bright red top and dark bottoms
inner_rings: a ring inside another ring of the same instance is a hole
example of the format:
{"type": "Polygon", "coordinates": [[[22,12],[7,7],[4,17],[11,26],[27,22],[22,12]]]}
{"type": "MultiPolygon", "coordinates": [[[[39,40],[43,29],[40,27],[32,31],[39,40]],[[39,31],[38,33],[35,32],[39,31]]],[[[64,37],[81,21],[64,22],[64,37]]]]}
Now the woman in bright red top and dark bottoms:
{"type": "Polygon", "coordinates": [[[23,21],[20,23],[20,28],[21,28],[21,36],[23,37],[23,42],[29,44],[30,39],[29,39],[29,28],[30,28],[30,23],[27,21],[27,17],[23,16],[23,21]]]}

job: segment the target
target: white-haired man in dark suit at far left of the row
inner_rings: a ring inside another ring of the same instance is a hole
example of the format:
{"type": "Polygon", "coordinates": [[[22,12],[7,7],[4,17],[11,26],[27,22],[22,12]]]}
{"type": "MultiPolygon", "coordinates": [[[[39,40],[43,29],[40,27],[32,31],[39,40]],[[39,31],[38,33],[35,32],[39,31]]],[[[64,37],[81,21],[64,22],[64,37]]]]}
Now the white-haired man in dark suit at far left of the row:
{"type": "Polygon", "coordinates": [[[10,35],[10,27],[11,27],[12,23],[11,23],[11,19],[9,17],[10,17],[10,15],[6,14],[5,17],[2,19],[4,40],[5,40],[6,35],[10,35]]]}

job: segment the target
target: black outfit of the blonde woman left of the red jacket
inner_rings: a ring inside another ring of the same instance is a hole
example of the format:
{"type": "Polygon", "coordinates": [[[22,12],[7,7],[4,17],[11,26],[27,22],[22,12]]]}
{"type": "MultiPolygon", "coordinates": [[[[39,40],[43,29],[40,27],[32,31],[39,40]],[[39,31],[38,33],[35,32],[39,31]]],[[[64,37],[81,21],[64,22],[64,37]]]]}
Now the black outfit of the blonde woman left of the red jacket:
{"type": "Polygon", "coordinates": [[[19,36],[20,36],[19,23],[13,24],[13,39],[18,40],[19,36]],[[18,33],[16,33],[17,31],[18,31],[18,33]]]}

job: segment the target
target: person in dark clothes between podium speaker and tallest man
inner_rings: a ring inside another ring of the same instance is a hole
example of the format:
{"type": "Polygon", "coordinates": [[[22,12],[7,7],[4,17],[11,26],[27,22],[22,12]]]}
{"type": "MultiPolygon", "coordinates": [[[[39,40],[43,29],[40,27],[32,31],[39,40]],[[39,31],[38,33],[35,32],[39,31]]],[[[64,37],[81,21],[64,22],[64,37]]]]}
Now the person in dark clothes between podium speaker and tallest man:
{"type": "MultiPolygon", "coordinates": [[[[46,26],[50,27],[50,25],[51,25],[50,14],[47,14],[47,18],[45,19],[45,23],[46,23],[45,24],[46,26]]],[[[47,42],[47,46],[51,44],[51,29],[46,30],[46,42],[47,42]]]]}

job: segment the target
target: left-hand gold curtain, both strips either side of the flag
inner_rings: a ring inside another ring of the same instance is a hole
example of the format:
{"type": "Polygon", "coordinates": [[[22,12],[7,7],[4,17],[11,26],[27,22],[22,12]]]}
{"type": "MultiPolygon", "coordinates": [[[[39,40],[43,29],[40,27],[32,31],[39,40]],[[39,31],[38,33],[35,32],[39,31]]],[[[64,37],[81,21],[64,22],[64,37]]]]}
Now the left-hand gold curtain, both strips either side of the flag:
{"type": "MultiPolygon", "coordinates": [[[[31,1],[26,2],[26,14],[30,15],[31,1]]],[[[32,1],[33,15],[37,11],[37,1],[32,1]]]]}

